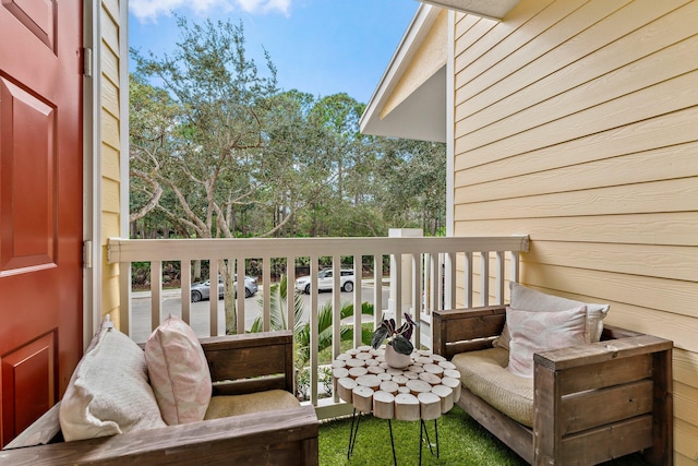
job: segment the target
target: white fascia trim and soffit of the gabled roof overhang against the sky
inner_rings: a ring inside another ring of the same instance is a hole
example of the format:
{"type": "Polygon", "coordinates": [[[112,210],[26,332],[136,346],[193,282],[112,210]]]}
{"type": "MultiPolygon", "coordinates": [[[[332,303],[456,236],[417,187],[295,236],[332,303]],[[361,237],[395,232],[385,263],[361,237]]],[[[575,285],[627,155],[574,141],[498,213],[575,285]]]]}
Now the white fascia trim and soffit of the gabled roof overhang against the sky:
{"type": "Polygon", "coordinates": [[[400,77],[442,10],[421,4],[417,10],[360,121],[361,132],[389,138],[446,142],[446,67],[426,79],[397,107],[381,118],[400,77]]]}

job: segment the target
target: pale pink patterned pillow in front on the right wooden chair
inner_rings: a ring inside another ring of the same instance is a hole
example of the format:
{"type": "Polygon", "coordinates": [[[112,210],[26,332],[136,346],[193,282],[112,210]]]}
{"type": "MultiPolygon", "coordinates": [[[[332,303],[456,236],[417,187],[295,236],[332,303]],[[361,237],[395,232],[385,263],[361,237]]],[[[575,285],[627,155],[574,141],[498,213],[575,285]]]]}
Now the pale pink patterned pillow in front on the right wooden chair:
{"type": "Polygon", "coordinates": [[[535,353],[589,343],[586,306],[555,312],[521,311],[507,307],[506,323],[512,335],[507,369],[520,377],[533,377],[535,353]]]}

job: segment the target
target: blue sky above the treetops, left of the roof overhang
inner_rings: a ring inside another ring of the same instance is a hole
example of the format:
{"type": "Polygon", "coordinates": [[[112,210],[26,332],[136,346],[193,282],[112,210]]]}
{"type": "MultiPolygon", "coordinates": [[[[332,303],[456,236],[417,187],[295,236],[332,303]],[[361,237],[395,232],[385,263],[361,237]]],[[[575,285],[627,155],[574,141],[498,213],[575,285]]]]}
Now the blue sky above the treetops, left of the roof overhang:
{"type": "Polygon", "coordinates": [[[129,46],[173,50],[172,13],[242,21],[248,56],[262,70],[266,49],[282,91],[347,93],[368,104],[418,8],[416,0],[129,0],[129,46]]]}

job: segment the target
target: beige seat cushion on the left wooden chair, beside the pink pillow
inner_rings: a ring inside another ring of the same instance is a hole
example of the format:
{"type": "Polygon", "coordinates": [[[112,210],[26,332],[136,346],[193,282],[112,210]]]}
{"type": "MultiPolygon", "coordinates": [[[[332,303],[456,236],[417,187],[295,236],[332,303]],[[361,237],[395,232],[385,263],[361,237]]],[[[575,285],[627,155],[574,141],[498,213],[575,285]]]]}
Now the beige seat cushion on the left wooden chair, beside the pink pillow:
{"type": "Polygon", "coordinates": [[[250,413],[297,408],[300,405],[298,398],[285,390],[269,390],[246,395],[213,396],[204,419],[219,419],[250,413]]]}

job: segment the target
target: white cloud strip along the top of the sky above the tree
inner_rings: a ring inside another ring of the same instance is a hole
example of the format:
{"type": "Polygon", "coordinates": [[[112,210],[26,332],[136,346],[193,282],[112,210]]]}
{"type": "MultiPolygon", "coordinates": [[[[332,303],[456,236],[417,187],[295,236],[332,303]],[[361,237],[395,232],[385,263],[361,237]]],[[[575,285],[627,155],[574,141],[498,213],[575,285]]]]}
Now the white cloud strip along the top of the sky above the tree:
{"type": "Polygon", "coordinates": [[[129,10],[142,23],[157,22],[158,16],[172,11],[189,9],[198,15],[207,15],[214,8],[229,11],[236,8],[248,13],[278,11],[288,14],[291,0],[130,0],[129,10]]]}

